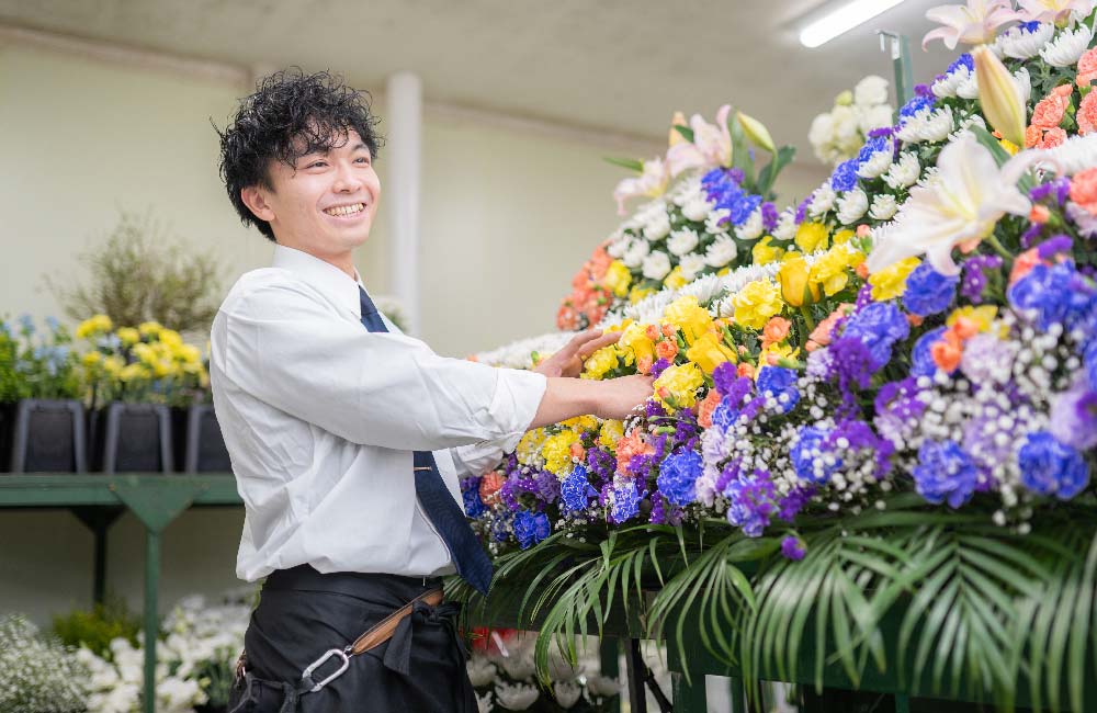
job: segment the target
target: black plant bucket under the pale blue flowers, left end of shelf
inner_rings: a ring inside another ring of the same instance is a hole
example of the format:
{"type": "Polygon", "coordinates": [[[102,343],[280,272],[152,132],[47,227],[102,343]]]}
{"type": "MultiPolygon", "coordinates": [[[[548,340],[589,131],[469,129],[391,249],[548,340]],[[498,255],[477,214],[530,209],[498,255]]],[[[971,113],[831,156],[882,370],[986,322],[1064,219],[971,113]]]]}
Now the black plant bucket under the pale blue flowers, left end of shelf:
{"type": "Polygon", "coordinates": [[[25,398],[0,406],[0,469],[87,473],[83,405],[25,398]]]}

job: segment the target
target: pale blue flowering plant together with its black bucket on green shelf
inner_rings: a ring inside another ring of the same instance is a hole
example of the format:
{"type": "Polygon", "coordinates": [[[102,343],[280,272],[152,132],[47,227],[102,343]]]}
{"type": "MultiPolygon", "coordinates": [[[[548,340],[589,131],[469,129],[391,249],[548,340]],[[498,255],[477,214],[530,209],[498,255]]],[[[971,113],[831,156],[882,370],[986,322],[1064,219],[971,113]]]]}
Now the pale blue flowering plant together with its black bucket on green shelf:
{"type": "Polygon", "coordinates": [[[72,338],[56,319],[0,321],[0,472],[83,473],[83,383],[72,338]]]}

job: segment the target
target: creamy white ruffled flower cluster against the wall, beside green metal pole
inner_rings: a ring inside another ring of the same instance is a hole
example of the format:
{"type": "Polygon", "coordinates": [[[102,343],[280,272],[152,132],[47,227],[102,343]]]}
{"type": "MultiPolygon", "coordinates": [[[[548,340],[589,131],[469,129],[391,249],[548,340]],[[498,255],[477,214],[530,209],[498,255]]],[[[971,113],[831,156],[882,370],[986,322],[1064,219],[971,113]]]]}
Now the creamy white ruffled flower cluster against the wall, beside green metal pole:
{"type": "Polygon", "coordinates": [[[812,121],[807,140],[821,161],[837,166],[857,156],[869,132],[890,126],[893,111],[887,103],[887,80],[869,75],[852,92],[839,94],[833,110],[812,121]]]}

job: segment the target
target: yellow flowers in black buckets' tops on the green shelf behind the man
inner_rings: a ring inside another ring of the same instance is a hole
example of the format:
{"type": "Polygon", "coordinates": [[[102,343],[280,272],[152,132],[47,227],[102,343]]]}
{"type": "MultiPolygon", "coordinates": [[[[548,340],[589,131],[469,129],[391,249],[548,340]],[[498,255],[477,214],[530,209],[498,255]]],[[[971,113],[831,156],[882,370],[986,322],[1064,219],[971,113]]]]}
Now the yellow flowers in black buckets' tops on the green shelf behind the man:
{"type": "Polygon", "coordinates": [[[208,399],[208,375],[202,353],[178,331],[156,321],[118,327],[95,315],[77,327],[90,349],[80,361],[92,406],[108,401],[145,401],[189,406],[208,399]]]}

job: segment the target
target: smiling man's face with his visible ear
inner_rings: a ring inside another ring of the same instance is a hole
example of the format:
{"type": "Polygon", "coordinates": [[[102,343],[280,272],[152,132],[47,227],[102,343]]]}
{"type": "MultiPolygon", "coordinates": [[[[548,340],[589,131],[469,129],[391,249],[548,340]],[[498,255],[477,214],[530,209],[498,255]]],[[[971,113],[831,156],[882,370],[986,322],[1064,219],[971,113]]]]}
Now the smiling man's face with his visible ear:
{"type": "Polygon", "coordinates": [[[346,142],[336,137],[333,144],[327,151],[302,156],[294,167],[272,161],[273,191],[245,189],[245,202],[249,191],[258,193],[259,205],[248,204],[270,223],[280,244],[320,258],[346,254],[365,242],[381,197],[373,157],[358,132],[349,129],[346,142]]]}

